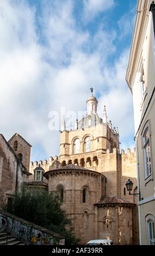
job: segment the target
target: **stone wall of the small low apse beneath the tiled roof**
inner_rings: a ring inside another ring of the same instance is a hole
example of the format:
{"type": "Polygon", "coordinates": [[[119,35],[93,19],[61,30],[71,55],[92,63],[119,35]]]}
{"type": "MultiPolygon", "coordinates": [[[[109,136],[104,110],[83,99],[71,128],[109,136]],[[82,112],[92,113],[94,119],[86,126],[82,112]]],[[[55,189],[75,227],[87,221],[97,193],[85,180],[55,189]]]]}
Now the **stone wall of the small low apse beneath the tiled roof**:
{"type": "Polygon", "coordinates": [[[114,245],[132,244],[131,206],[103,206],[98,209],[98,239],[111,239],[114,245]]]}

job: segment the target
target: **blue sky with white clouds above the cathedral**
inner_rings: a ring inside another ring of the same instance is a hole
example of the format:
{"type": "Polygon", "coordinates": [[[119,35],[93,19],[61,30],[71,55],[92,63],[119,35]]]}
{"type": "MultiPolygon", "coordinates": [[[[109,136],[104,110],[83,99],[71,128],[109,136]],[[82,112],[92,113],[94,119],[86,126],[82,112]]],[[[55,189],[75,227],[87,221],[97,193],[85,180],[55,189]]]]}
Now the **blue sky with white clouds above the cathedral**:
{"type": "Polygon", "coordinates": [[[136,8],[137,0],[0,1],[0,133],[33,145],[31,161],[59,156],[64,109],[74,124],[91,87],[100,115],[106,105],[119,127],[120,149],[133,150],[125,75],[136,8]]]}

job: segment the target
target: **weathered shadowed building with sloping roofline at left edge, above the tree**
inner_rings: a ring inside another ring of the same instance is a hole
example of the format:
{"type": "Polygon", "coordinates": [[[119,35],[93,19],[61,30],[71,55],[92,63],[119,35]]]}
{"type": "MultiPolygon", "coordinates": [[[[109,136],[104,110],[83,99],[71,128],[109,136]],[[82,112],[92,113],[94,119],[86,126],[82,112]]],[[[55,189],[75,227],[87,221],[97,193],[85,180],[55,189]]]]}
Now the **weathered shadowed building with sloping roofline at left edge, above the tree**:
{"type": "Polygon", "coordinates": [[[0,208],[11,200],[13,194],[21,190],[23,182],[28,182],[29,169],[17,157],[14,149],[0,135],[0,208]]]}

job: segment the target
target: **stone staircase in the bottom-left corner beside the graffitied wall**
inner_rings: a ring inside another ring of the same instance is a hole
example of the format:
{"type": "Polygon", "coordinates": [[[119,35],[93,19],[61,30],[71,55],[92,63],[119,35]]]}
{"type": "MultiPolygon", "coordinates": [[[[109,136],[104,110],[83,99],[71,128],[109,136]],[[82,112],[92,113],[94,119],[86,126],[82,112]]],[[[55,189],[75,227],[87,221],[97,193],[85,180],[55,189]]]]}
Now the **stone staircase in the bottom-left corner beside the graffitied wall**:
{"type": "Polygon", "coordinates": [[[22,243],[17,238],[14,238],[9,233],[8,233],[8,242],[7,242],[7,231],[0,229],[0,245],[24,245],[24,243],[22,243]]]}

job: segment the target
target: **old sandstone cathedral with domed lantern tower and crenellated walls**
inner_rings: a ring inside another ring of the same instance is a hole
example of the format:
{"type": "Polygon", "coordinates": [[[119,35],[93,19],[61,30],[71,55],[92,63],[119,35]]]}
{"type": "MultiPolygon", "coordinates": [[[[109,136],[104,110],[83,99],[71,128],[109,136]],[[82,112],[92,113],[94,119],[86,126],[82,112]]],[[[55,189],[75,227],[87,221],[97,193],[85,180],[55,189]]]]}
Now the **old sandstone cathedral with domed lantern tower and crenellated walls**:
{"type": "MultiPolygon", "coordinates": [[[[49,157],[49,161],[35,161],[29,166],[31,145],[18,133],[5,143],[25,167],[22,172],[28,188],[37,186],[60,194],[62,208],[72,219],[82,244],[112,239],[115,245],[137,245],[137,196],[124,189],[126,181],[132,179],[133,192],[137,191],[135,149],[120,152],[118,129],[107,121],[106,108],[102,117],[97,108],[98,100],[92,93],[87,99],[87,114],[76,120],[74,130],[66,129],[63,118],[60,156],[49,157]]],[[[7,192],[10,194],[11,188],[7,192]]]]}

